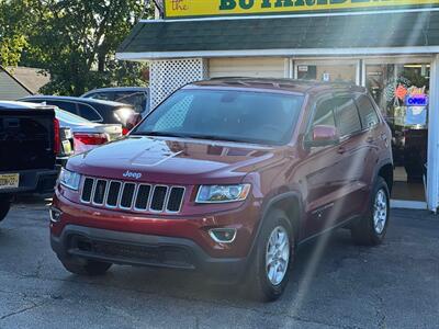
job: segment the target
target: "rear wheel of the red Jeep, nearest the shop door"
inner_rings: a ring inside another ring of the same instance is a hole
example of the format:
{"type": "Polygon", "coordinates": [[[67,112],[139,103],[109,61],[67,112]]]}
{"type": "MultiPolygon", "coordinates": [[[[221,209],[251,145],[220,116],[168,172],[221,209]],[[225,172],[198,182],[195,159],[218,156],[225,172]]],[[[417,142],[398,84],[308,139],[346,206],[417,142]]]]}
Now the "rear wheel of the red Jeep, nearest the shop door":
{"type": "Polygon", "coordinates": [[[383,242],[389,226],[390,192],[387,183],[381,177],[372,189],[368,213],[351,228],[357,245],[376,246],[383,242]]]}

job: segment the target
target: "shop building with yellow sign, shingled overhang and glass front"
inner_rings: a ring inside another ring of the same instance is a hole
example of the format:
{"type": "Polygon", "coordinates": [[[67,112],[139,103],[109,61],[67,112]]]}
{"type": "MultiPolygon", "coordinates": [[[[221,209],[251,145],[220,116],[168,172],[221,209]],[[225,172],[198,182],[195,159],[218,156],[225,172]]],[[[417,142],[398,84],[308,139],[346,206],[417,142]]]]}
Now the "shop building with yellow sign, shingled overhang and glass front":
{"type": "Polygon", "coordinates": [[[216,77],[347,81],[393,131],[393,206],[439,205],[439,0],[166,0],[117,58],[149,61],[151,106],[216,77]],[[277,7],[277,4],[279,4],[277,7]]]}

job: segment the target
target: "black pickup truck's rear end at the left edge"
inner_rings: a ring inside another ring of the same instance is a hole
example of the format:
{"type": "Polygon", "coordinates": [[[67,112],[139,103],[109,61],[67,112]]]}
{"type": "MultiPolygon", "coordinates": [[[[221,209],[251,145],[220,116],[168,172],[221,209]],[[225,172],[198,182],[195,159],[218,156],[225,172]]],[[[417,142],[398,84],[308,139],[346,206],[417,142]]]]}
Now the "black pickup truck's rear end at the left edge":
{"type": "Polygon", "coordinates": [[[0,101],[0,222],[16,194],[54,191],[59,147],[53,106],[0,101]]]}

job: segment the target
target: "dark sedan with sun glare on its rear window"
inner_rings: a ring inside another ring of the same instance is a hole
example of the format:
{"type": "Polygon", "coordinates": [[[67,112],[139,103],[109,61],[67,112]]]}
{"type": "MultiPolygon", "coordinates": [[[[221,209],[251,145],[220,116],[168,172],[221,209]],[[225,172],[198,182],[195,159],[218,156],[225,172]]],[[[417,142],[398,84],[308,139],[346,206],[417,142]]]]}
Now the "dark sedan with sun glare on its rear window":
{"type": "Polygon", "coordinates": [[[140,118],[132,105],[111,101],[49,95],[26,97],[20,101],[55,105],[94,123],[122,124],[124,135],[140,118]]]}

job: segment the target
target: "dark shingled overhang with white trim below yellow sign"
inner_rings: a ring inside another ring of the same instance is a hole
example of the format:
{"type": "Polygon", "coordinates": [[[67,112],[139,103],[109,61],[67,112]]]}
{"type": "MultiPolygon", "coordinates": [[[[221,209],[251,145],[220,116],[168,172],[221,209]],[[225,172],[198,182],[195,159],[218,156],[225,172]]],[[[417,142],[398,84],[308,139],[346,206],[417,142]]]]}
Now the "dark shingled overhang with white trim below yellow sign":
{"type": "Polygon", "coordinates": [[[117,58],[439,53],[439,11],[142,21],[117,58]]]}

